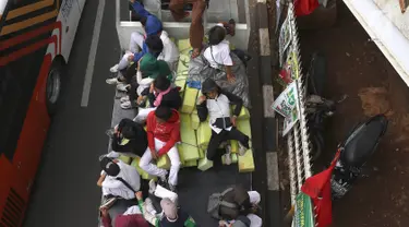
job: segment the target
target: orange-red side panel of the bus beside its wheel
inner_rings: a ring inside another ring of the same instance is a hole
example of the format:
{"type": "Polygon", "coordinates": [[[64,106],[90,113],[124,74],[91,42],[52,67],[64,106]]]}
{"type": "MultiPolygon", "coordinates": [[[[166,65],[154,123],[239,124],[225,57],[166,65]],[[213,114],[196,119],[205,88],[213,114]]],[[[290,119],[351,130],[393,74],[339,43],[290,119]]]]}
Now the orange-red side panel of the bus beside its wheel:
{"type": "Polygon", "coordinates": [[[27,187],[35,178],[50,124],[46,105],[46,86],[52,63],[50,53],[44,58],[13,158],[13,165],[22,165],[20,171],[27,180],[27,187]]]}

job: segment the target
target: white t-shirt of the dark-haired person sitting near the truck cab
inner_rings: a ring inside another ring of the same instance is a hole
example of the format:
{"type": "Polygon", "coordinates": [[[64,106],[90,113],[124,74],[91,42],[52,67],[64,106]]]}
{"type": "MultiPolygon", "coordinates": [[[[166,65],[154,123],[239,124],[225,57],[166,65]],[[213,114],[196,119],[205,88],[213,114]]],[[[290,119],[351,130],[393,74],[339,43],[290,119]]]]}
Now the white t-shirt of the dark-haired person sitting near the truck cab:
{"type": "Polygon", "coordinates": [[[220,69],[221,65],[233,65],[230,57],[230,43],[226,39],[218,45],[207,47],[203,56],[215,69],[220,69]]]}

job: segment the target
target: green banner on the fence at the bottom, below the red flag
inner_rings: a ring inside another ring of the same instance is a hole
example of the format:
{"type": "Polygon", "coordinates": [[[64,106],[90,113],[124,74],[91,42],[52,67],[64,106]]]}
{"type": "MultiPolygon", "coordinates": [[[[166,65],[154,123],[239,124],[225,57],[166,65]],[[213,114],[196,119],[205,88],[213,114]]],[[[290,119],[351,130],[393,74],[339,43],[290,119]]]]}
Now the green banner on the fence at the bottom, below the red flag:
{"type": "Polygon", "coordinates": [[[299,193],[296,198],[296,214],[292,227],[314,227],[314,213],[309,195],[299,193]]]}

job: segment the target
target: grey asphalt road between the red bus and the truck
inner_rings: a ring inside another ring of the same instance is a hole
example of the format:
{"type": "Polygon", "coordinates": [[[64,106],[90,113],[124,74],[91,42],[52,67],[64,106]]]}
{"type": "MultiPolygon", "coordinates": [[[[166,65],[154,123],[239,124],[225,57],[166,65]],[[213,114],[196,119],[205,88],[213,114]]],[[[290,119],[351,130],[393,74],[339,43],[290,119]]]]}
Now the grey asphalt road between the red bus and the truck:
{"type": "Polygon", "coordinates": [[[62,101],[53,118],[24,226],[97,226],[98,156],[107,152],[115,89],[105,83],[120,55],[115,1],[106,2],[89,103],[81,96],[98,1],[87,1],[76,33],[62,101]]]}

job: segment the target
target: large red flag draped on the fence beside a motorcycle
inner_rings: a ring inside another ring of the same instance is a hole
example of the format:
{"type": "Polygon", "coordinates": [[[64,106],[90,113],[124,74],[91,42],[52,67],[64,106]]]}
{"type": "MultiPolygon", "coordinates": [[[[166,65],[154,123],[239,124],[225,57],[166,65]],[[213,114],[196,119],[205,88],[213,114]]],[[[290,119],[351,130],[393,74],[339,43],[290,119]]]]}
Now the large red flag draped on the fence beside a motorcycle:
{"type": "Polygon", "coordinates": [[[324,171],[308,178],[301,191],[308,194],[314,204],[317,227],[326,227],[333,223],[333,201],[330,194],[330,176],[339,158],[336,153],[330,166],[324,171]]]}

